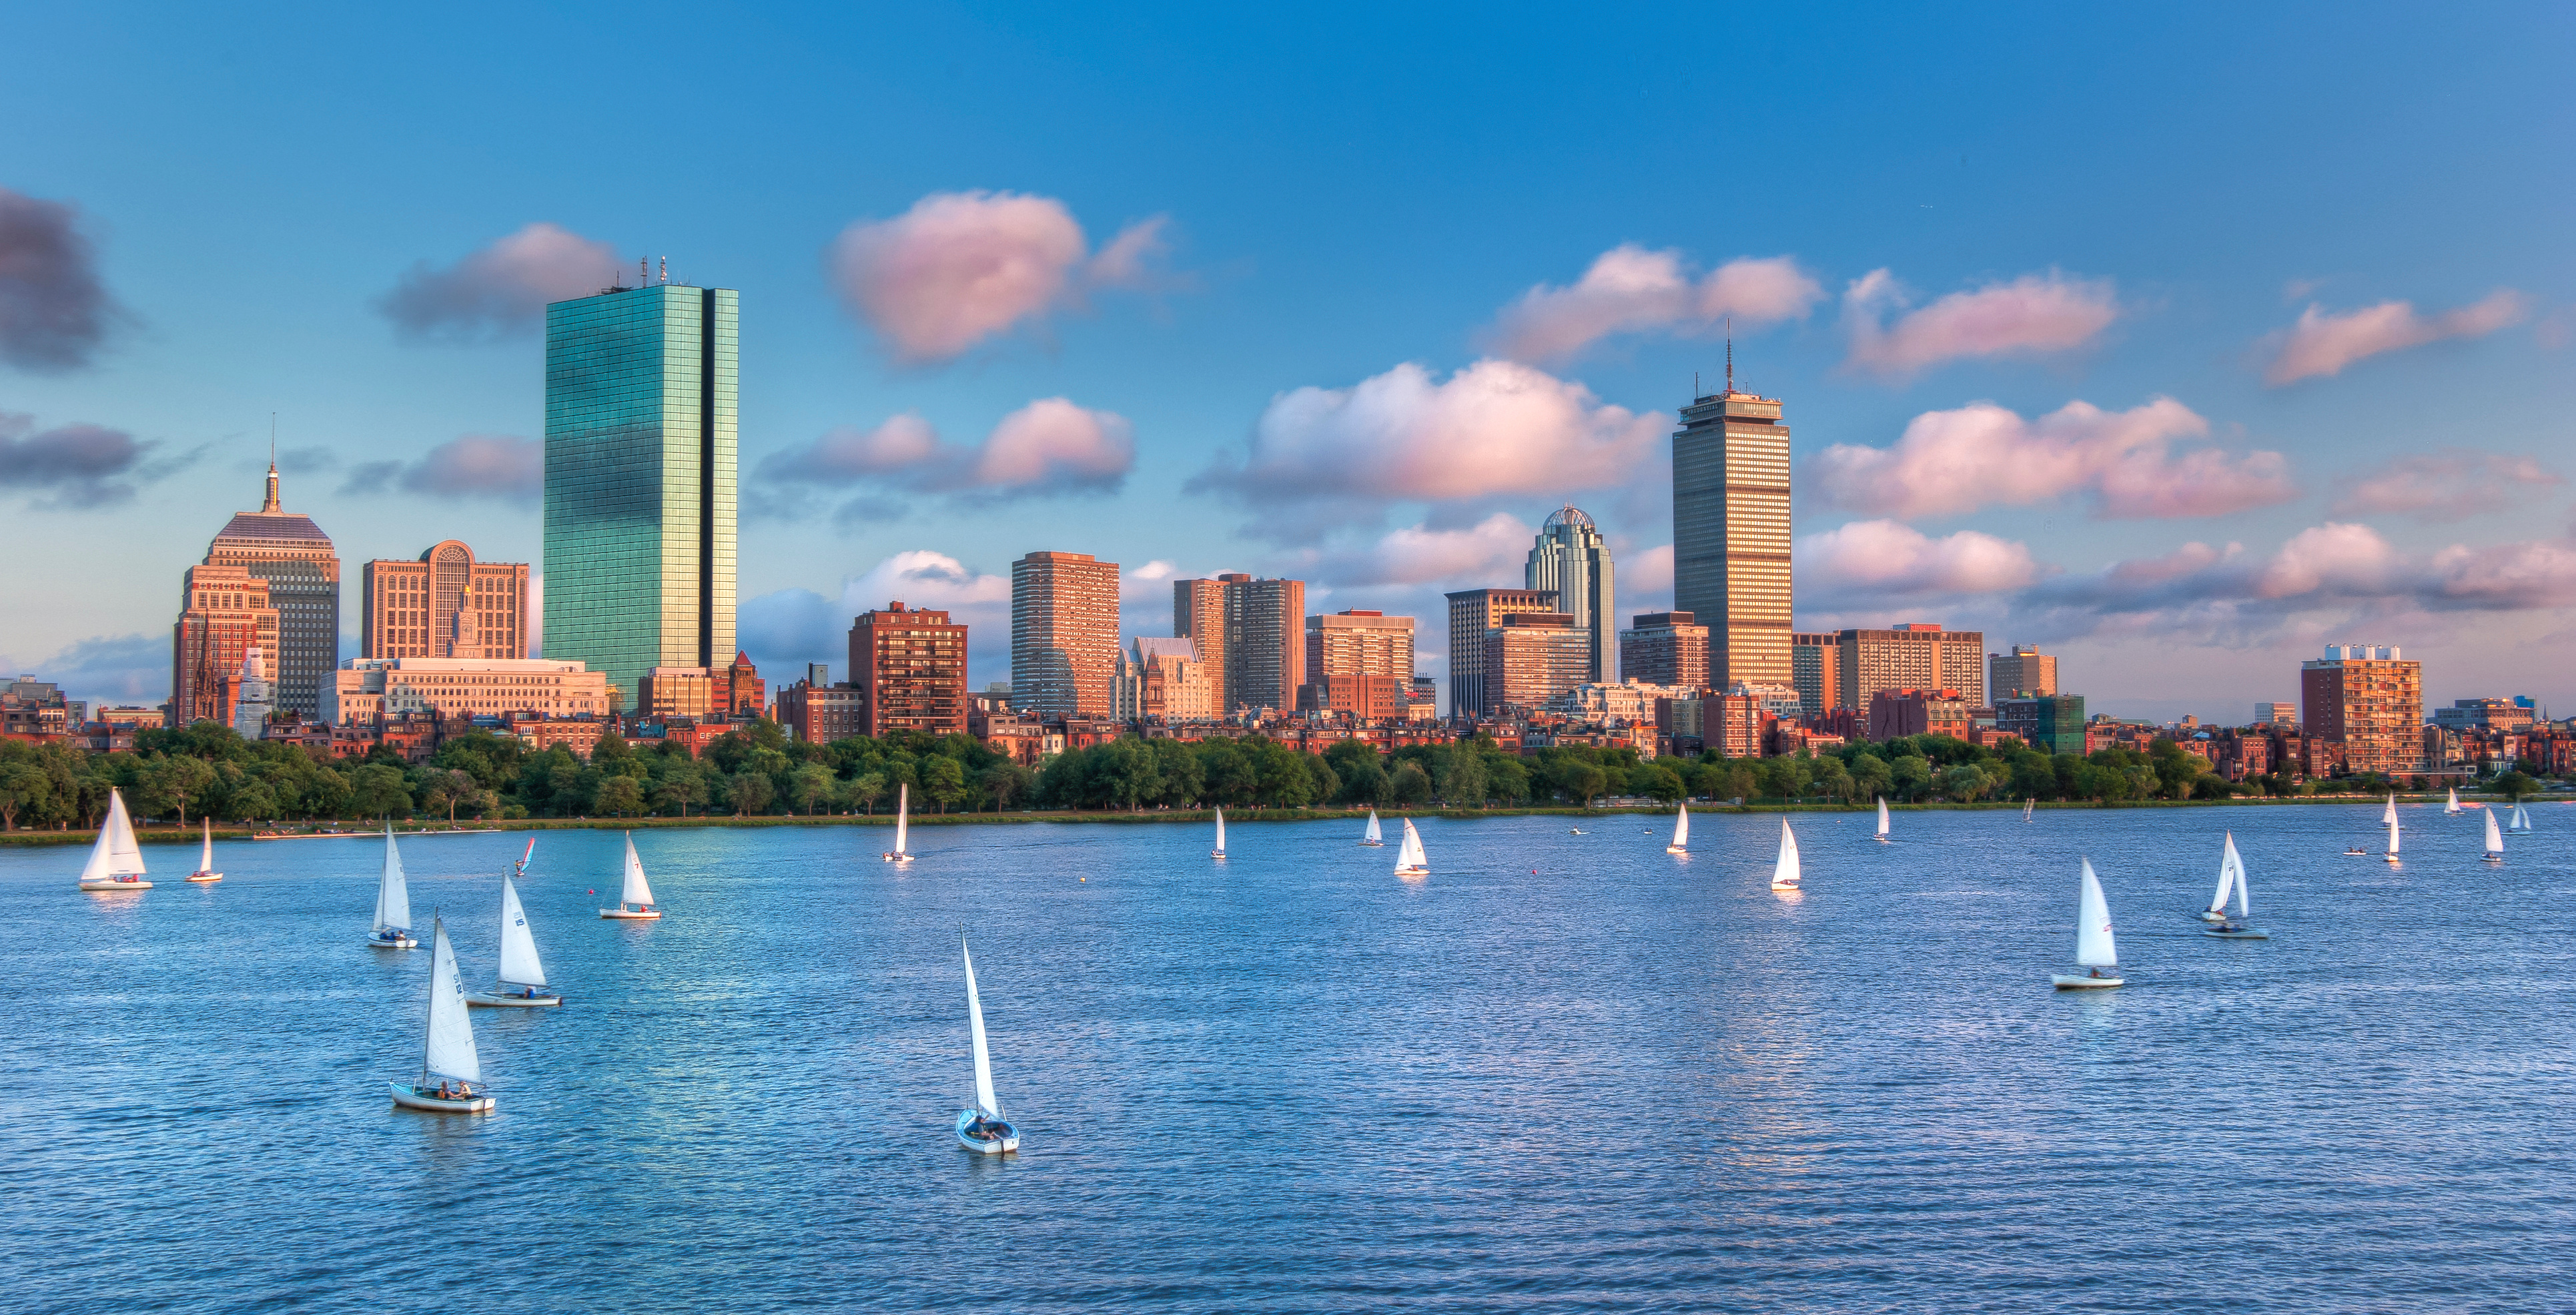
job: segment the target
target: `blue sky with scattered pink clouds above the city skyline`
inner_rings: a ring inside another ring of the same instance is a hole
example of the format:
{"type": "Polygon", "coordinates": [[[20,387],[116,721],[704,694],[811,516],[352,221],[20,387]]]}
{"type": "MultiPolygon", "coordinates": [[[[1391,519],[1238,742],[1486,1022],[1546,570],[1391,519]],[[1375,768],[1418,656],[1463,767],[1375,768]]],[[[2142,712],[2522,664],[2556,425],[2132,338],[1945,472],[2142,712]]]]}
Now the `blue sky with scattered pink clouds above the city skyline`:
{"type": "Polygon", "coordinates": [[[0,26],[0,204],[103,294],[72,330],[23,294],[0,338],[0,660],[75,694],[165,696],[178,575],[255,505],[270,413],[350,580],[443,536],[536,562],[533,320],[386,309],[518,250],[742,289],[762,663],[904,596],[1005,678],[1028,549],[1131,567],[1141,634],[1213,570],[1430,621],[1517,583],[1558,500],[1659,606],[1659,436],[1731,307],[1795,431],[1801,624],[2043,642],[2133,714],[2241,719],[2326,639],[2576,706],[2563,8],[0,26]],[[902,286],[994,242],[1043,286],[981,320],[902,286]],[[461,438],[492,462],[425,477],[461,438]]]}

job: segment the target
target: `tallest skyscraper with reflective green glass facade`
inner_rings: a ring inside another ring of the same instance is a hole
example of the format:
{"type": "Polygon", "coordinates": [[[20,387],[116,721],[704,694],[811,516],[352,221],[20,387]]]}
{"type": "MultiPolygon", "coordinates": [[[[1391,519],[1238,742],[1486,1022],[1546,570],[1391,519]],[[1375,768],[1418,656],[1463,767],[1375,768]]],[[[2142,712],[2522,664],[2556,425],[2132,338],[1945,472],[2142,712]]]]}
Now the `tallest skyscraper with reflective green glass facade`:
{"type": "Polygon", "coordinates": [[[546,655],[634,699],[734,647],[737,294],[546,307],[546,655]]]}

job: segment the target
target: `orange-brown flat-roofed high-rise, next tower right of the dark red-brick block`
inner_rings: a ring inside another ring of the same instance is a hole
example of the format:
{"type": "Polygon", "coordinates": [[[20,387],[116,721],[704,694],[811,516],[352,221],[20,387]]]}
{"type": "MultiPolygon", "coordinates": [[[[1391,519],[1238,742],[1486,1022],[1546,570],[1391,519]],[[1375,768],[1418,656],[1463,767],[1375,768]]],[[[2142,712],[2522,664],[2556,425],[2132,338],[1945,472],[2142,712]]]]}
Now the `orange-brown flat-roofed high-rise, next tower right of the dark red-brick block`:
{"type": "Polygon", "coordinates": [[[1012,712],[1038,722],[1115,717],[1115,681],[1118,562],[1095,562],[1090,552],[1030,552],[1012,562],[1012,712]]]}

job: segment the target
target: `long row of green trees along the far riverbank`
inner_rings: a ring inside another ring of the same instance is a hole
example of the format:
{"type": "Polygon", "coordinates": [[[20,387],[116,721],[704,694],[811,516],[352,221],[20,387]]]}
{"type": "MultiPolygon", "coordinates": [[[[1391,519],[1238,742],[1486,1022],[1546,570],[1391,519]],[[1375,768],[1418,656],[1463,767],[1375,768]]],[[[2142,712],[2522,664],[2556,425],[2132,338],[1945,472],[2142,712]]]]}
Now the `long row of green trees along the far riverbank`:
{"type": "MultiPolygon", "coordinates": [[[[2537,781],[2504,774],[2506,799],[2537,781]]],[[[1195,820],[1208,807],[1255,817],[1334,817],[1347,810],[1440,815],[1595,812],[1602,802],[1747,810],[2050,807],[2298,802],[2406,792],[2354,776],[2226,781],[2179,745],[2045,755],[1989,750],[1947,735],[1842,745],[1785,758],[1638,758],[1628,748],[1510,753],[1489,737],[1406,745],[1381,755],[1340,743],[1314,755],[1267,737],[1146,740],[1128,735],[1046,761],[1015,763],[969,735],[891,735],[814,745],[775,722],[737,730],[690,755],[603,737],[590,758],[567,748],[469,732],[425,763],[389,748],[322,761],[296,745],[242,740],[227,727],[147,730],[131,753],[0,740],[0,835],[59,843],[98,825],[108,789],[147,838],[224,823],[224,835],[397,820],[404,830],[544,825],[824,825],[871,823],[909,792],[912,820],[1195,820]],[[1723,799],[1728,804],[1708,804],[1723,799]],[[1741,799],[1741,804],[1734,804],[1741,799]]]]}

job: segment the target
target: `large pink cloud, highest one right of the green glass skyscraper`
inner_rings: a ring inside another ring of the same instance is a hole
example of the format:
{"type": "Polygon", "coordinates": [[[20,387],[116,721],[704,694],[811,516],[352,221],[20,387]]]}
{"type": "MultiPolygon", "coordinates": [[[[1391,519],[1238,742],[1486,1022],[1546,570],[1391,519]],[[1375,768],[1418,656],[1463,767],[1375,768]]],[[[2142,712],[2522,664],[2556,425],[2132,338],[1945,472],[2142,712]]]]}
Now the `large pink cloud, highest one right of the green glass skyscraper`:
{"type": "Polygon", "coordinates": [[[1087,258],[1082,224],[1054,196],[940,191],[850,224],[824,260],[896,361],[935,364],[1079,304],[1090,286],[1144,286],[1162,232],[1162,217],[1144,219],[1087,258]]]}

